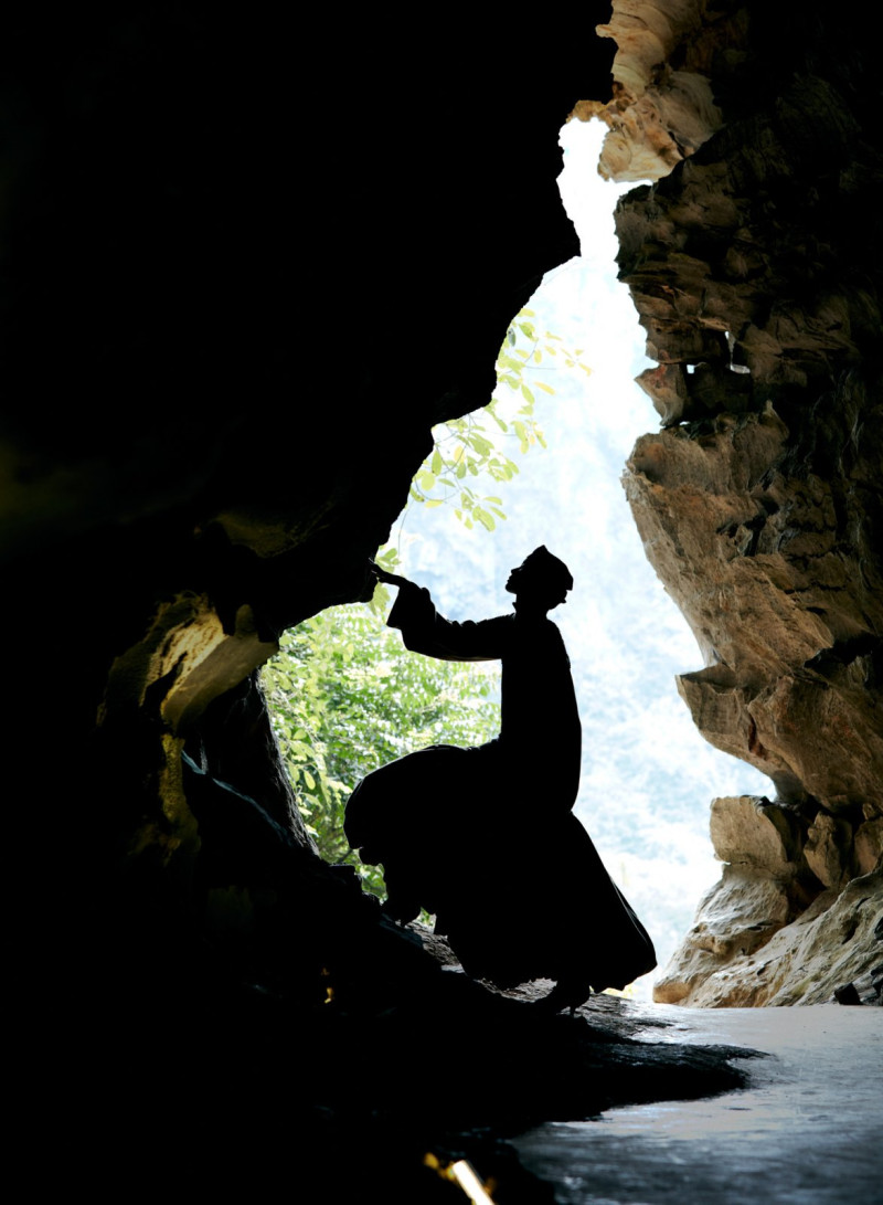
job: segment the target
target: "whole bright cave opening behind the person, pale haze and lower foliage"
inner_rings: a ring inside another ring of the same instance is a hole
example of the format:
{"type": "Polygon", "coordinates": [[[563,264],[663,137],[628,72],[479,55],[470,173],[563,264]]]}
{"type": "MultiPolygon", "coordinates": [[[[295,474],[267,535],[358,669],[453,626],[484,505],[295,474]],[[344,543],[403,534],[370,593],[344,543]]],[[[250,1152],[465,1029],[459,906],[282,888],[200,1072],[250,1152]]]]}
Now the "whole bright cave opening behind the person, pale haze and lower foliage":
{"type": "MultiPolygon", "coordinates": [[[[529,455],[513,452],[518,471],[502,484],[485,480],[483,488],[500,490],[491,501],[506,512],[505,519],[491,522],[493,530],[470,522],[469,512],[458,510],[457,494],[428,502],[423,487],[429,487],[425,481],[419,486],[432,466],[428,457],[389,547],[396,571],[429,587],[454,619],[505,613],[511,605],[502,589],[506,572],[540,543],[575,569],[577,589],[555,622],[571,653],[588,737],[577,815],[647,918],[661,968],[719,875],[708,839],[710,800],[763,797],[769,781],[708,745],[677,698],[675,676],[695,663],[696,643],[647,560],[622,488],[632,443],[653,413],[636,383],[652,362],[628,289],[616,276],[613,206],[636,183],[617,186],[598,172],[605,133],[598,120],[570,120],[561,130],[559,189],[581,236],[581,254],[547,274],[529,301],[531,329],[560,340],[547,341],[543,354],[531,355],[524,369],[546,446],[534,440],[529,455]],[[567,369],[555,346],[579,352],[590,376],[572,359],[567,369]]],[[[498,365],[500,376],[506,371],[498,365]]],[[[513,402],[501,381],[496,393],[507,400],[500,415],[511,424],[519,399],[513,402]]],[[[511,425],[499,435],[481,411],[475,419],[502,445],[519,440],[511,425]]],[[[451,439],[447,429],[437,429],[436,439],[443,435],[451,439]]],[[[432,477],[442,471],[436,468],[432,477]]],[[[329,860],[353,864],[366,889],[381,897],[382,874],[363,866],[342,834],[348,792],[384,760],[437,741],[481,743],[499,724],[493,669],[461,665],[452,672],[453,666],[443,665],[436,672],[429,659],[402,649],[398,634],[383,628],[383,604],[351,604],[307,621],[290,645],[296,643],[298,657],[285,653],[284,666],[277,660],[265,671],[283,756],[307,824],[319,825],[319,848],[329,860]],[[326,676],[329,658],[339,682],[326,676]],[[304,680],[305,698],[314,696],[318,666],[330,713],[319,706],[307,715],[295,699],[304,680]],[[299,674],[305,676],[300,687],[299,674]],[[426,695],[418,721],[411,704],[428,676],[434,677],[432,705],[426,695]],[[399,706],[395,713],[393,706],[399,706]],[[306,729],[317,734],[312,747],[306,729]]],[[[526,890],[529,870],[523,874],[526,890]]],[[[649,998],[652,980],[632,986],[638,998],[649,998]]]]}

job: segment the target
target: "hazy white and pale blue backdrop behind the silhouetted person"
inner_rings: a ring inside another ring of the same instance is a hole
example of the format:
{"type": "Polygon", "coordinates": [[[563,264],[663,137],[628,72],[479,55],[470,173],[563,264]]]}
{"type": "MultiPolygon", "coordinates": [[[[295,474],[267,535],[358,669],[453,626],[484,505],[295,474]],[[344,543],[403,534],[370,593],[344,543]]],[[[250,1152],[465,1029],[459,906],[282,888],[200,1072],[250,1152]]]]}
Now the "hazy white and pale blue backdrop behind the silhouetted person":
{"type": "MultiPolygon", "coordinates": [[[[548,357],[526,370],[528,382],[542,372],[555,390],[535,390],[548,449],[513,453],[520,472],[505,487],[508,518],[496,531],[466,531],[448,507],[414,506],[400,551],[404,571],[453,619],[508,611],[507,570],[540,543],[570,566],[576,587],[552,618],[570,652],[583,721],[576,810],[649,928],[661,968],[719,877],[707,835],[712,798],[767,794],[771,783],[693,725],[673,680],[700,669],[701,654],[644,557],[620,484],[635,440],[659,419],[634,383],[652,362],[628,288],[616,280],[612,212],[635,186],[598,175],[602,134],[599,122],[563,130],[559,184],[582,255],[548,274],[530,302],[540,329],[584,348],[593,375],[557,371],[548,357]]],[[[640,995],[652,978],[638,983],[640,995]]]]}

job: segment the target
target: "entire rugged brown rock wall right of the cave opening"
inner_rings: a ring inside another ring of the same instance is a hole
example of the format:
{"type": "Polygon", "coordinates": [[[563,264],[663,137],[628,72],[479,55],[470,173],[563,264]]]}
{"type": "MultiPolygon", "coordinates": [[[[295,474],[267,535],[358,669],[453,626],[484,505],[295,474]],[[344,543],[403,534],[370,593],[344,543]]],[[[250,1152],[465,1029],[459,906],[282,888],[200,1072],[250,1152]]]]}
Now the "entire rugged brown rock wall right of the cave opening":
{"type": "Polygon", "coordinates": [[[606,30],[614,100],[577,116],[611,128],[604,171],[655,181],[617,211],[663,424],[625,490],[705,654],[682,698],[776,788],[714,801],[724,875],[655,995],[813,1003],[873,971],[878,999],[879,83],[823,5],[623,0],[606,30]]]}

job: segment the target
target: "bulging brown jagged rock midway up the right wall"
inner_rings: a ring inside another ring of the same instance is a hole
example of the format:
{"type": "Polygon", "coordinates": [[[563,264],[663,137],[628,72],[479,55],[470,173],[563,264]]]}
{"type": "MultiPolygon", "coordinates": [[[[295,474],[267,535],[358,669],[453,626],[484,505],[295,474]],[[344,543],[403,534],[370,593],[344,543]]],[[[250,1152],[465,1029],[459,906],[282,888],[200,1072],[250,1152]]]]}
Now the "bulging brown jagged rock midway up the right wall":
{"type": "Polygon", "coordinates": [[[683,427],[643,436],[626,493],[710,663],[678,683],[705,735],[787,798],[879,812],[878,570],[864,548],[850,560],[830,484],[776,471],[785,447],[771,407],[697,440],[683,427]]]}

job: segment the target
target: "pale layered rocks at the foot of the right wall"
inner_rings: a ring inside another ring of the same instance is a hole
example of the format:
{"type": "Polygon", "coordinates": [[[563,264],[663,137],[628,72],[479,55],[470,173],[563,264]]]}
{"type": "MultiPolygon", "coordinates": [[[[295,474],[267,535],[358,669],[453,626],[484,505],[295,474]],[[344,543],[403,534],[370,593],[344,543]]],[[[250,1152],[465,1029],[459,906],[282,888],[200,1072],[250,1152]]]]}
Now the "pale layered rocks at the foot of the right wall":
{"type": "Polygon", "coordinates": [[[875,970],[881,874],[853,878],[847,822],[819,811],[807,825],[796,809],[741,795],[713,801],[711,835],[724,872],[655,983],[659,1003],[819,1004],[875,970]],[[843,892],[849,882],[858,894],[843,892]],[[850,901],[861,910],[852,929],[850,901]],[[849,948],[825,948],[835,939],[849,948]]]}

